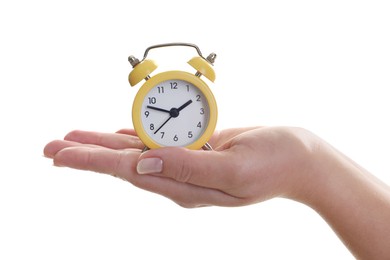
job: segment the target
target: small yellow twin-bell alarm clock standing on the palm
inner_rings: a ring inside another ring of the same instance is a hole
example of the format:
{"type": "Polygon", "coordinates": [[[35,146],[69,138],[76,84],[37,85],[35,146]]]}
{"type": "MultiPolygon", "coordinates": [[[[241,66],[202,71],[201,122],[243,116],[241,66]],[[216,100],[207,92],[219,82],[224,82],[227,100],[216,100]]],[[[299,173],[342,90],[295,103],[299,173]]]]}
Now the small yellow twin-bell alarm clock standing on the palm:
{"type": "Polygon", "coordinates": [[[133,66],[129,74],[130,85],[145,80],[134,98],[132,110],[134,129],[145,144],[144,150],[166,146],[212,149],[207,142],[217,124],[217,104],[201,76],[214,82],[212,65],[215,58],[214,53],[204,58],[198,46],[189,43],[153,45],[146,49],[141,61],[129,57],[133,66]],[[188,61],[196,70],[195,74],[173,70],[150,76],[157,65],[146,59],[149,51],[171,46],[196,49],[198,56],[188,61]]]}

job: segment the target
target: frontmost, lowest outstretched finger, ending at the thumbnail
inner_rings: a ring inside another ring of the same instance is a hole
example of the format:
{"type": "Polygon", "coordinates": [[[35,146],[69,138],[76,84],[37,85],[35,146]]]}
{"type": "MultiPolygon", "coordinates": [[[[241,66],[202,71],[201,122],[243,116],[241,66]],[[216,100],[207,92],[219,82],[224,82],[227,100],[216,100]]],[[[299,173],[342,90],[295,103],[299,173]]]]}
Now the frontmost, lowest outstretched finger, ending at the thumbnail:
{"type": "Polygon", "coordinates": [[[71,146],[58,151],[54,165],[107,173],[127,179],[135,172],[140,150],[112,150],[102,147],[71,146]]]}

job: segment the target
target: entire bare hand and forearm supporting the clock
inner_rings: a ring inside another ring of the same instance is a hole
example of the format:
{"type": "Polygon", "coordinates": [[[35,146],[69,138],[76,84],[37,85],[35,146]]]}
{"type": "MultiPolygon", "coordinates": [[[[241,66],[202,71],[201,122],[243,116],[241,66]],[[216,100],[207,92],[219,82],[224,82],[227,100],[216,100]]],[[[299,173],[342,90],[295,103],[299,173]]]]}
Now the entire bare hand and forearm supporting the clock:
{"type": "Polygon", "coordinates": [[[183,207],[242,206],[274,197],[316,210],[359,259],[390,259],[390,189],[301,128],[216,132],[214,151],[141,153],[134,130],[72,131],[46,145],[54,165],[111,174],[183,207]]]}

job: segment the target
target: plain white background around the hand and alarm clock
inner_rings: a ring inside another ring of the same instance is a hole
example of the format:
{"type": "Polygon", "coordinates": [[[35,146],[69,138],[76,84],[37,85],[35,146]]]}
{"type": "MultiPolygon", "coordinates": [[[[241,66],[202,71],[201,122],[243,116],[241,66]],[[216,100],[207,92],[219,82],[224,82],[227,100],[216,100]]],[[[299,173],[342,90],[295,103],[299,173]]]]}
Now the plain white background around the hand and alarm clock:
{"type": "MultiPolygon", "coordinates": [[[[132,127],[127,56],[183,41],[218,54],[218,128],[301,126],[390,183],[389,13],[387,1],[2,1],[0,259],[352,259],[305,205],[183,209],[53,167],[42,149],[73,129],[132,127]]],[[[159,52],[179,69],[196,54],[159,52]]]]}

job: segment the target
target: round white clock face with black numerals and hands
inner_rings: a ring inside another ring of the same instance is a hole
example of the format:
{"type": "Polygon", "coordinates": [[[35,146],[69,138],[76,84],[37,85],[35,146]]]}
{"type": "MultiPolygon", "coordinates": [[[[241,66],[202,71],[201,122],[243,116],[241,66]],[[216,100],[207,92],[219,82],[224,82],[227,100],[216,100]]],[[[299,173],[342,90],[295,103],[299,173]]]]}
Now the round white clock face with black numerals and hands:
{"type": "Polygon", "coordinates": [[[160,146],[188,146],[209,124],[210,108],[203,92],[179,79],[162,81],[146,93],[141,109],[145,133],[160,146]]]}

